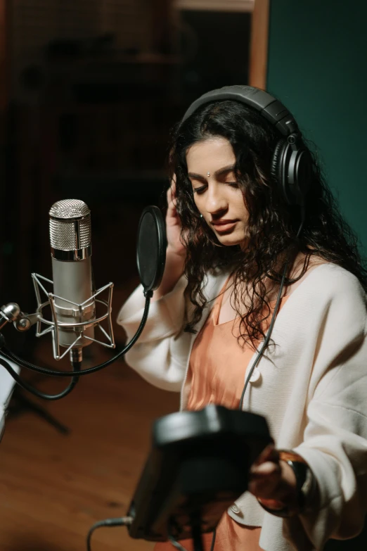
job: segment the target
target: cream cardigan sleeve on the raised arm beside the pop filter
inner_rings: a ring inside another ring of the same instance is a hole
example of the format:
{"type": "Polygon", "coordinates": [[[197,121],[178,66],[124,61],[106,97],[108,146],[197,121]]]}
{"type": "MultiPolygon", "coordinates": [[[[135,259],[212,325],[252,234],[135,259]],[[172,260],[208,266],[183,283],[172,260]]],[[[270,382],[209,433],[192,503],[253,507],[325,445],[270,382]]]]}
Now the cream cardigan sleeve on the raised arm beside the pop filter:
{"type": "MultiPolygon", "coordinates": [[[[150,304],[146,327],[125,356],[127,364],[143,379],[163,390],[181,390],[184,381],[191,334],[182,331],[185,317],[183,276],[174,289],[150,304]]],[[[146,299],[140,285],[124,303],[117,323],[124,327],[130,340],[139,327],[146,299]]]]}

